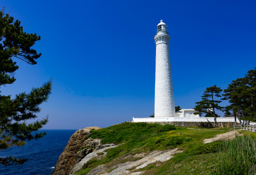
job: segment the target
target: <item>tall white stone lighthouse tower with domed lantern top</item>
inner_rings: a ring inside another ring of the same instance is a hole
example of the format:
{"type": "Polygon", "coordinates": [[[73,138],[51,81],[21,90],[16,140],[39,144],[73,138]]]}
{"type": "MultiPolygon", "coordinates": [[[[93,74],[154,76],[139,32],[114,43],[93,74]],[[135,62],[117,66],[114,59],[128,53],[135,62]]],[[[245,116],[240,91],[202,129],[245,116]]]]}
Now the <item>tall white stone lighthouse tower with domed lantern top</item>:
{"type": "Polygon", "coordinates": [[[155,34],[155,117],[175,117],[174,90],[171,72],[170,34],[163,20],[155,34]]]}

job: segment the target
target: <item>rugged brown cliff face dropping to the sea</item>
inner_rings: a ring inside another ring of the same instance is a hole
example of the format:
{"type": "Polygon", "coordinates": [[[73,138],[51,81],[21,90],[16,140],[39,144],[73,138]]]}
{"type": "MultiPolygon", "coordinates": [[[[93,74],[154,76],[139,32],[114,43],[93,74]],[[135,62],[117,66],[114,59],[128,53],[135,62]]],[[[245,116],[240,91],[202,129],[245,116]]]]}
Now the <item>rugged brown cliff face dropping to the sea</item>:
{"type": "Polygon", "coordinates": [[[100,128],[87,127],[80,129],[70,137],[55,165],[52,175],[69,175],[74,165],[100,145],[100,139],[88,139],[91,129],[100,128]]]}

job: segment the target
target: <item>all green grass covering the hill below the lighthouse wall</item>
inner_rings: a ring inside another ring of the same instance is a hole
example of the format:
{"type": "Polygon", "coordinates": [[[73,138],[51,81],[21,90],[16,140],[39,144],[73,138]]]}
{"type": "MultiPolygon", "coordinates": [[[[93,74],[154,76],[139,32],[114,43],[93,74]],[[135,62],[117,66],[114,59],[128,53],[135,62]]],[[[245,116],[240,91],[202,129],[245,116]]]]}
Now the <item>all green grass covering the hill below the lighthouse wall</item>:
{"type": "Polygon", "coordinates": [[[226,133],[233,128],[192,128],[146,123],[122,123],[99,130],[91,130],[90,138],[99,138],[101,144],[115,143],[118,147],[107,151],[106,156],[89,160],[77,175],[86,175],[99,165],[106,165],[111,172],[121,163],[135,161],[133,157],[153,150],[178,148],[165,162],[155,162],[131,172],[145,175],[243,175],[255,174],[256,146],[254,135],[236,137],[232,141],[203,144],[206,138],[226,133]]]}

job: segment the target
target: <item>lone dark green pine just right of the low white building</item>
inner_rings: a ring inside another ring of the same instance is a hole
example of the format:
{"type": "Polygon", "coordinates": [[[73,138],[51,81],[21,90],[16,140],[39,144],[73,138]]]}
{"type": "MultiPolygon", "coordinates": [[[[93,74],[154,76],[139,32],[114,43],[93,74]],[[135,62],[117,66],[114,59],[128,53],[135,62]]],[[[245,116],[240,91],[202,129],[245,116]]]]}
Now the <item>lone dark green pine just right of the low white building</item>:
{"type": "Polygon", "coordinates": [[[215,113],[215,110],[218,109],[222,111],[223,108],[219,106],[219,103],[221,101],[214,99],[215,97],[221,97],[220,92],[222,92],[222,90],[219,87],[217,87],[216,84],[212,87],[206,88],[206,91],[203,92],[203,95],[201,96],[202,100],[196,102],[197,105],[194,108],[196,111],[194,114],[199,114],[200,116],[202,115],[202,113],[213,115],[215,127],[219,127],[216,119],[218,115],[215,113]]]}

